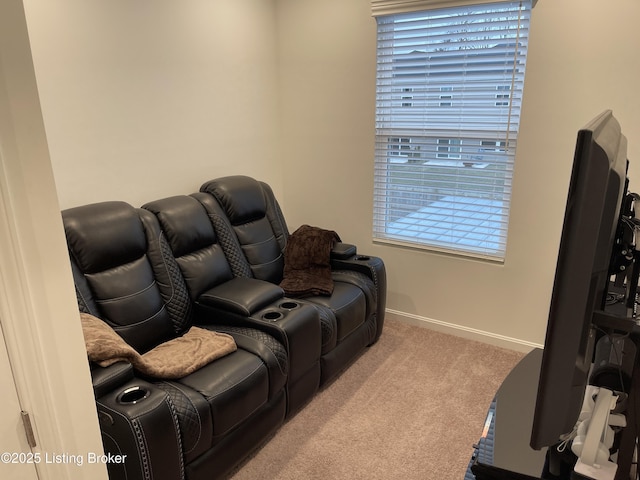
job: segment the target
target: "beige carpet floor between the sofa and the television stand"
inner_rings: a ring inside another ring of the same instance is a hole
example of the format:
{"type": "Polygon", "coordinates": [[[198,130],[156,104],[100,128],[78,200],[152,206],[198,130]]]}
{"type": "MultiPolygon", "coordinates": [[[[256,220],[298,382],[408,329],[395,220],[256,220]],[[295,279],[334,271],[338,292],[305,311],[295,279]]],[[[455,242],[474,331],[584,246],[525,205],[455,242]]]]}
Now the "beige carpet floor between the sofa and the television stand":
{"type": "Polygon", "coordinates": [[[233,480],[463,480],[521,353],[388,320],[380,341],[233,480]]]}

